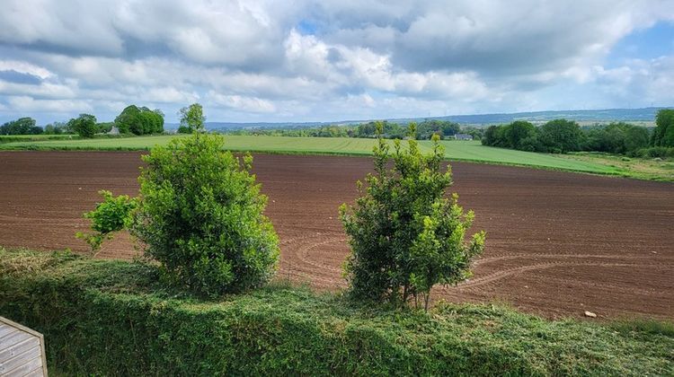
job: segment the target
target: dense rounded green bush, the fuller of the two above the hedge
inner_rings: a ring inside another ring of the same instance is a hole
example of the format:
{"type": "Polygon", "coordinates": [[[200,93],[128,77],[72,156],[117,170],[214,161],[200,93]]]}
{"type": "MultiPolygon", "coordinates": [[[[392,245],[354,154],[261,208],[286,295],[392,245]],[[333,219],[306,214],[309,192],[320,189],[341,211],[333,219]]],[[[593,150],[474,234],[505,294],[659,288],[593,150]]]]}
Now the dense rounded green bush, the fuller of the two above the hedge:
{"type": "Polygon", "coordinates": [[[267,282],[278,237],[262,215],[267,197],[222,136],[173,139],[143,157],[140,205],[131,229],[165,276],[200,294],[238,292],[267,282]]]}

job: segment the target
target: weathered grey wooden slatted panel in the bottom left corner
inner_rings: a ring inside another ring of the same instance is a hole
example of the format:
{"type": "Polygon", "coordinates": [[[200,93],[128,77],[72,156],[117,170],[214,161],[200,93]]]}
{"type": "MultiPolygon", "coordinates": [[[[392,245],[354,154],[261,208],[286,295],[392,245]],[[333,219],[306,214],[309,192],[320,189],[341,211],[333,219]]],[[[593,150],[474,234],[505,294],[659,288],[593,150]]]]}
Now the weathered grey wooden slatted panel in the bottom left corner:
{"type": "Polygon", "coordinates": [[[0,317],[0,376],[46,376],[45,355],[42,334],[0,317]]]}

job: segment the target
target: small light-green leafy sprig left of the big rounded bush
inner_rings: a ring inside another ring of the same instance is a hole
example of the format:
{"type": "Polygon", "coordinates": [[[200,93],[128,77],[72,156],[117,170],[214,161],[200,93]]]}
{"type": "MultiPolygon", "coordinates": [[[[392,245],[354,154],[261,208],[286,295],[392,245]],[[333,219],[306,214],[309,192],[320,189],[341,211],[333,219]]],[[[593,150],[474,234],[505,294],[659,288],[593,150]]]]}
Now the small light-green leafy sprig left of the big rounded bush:
{"type": "Polygon", "coordinates": [[[128,195],[113,197],[110,191],[101,190],[103,201],[96,205],[96,209],[84,214],[84,218],[92,221],[94,233],[77,232],[75,236],[86,241],[92,248],[92,254],[101,250],[104,240],[110,240],[113,232],[128,229],[131,224],[133,211],[137,208],[137,198],[128,195]]]}

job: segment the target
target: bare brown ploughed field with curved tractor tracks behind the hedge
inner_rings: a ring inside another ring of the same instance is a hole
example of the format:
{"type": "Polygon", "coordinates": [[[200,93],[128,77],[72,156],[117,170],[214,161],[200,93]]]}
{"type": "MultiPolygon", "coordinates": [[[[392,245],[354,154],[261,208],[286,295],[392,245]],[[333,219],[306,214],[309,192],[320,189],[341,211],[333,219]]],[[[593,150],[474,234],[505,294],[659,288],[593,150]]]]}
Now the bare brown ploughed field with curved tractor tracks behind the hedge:
{"type": "MultiPolygon", "coordinates": [[[[87,250],[75,232],[99,189],[137,194],[139,152],[0,152],[0,245],[87,250]]],[[[281,244],[279,276],[346,285],[338,206],[358,195],[368,157],[255,155],[281,244]]],[[[561,171],[453,162],[459,203],[487,231],[468,282],[436,299],[510,302],[548,317],[674,318],[674,185],[561,171]]],[[[471,232],[472,233],[472,232],[471,232]]],[[[102,257],[137,254],[129,236],[102,257]]]]}

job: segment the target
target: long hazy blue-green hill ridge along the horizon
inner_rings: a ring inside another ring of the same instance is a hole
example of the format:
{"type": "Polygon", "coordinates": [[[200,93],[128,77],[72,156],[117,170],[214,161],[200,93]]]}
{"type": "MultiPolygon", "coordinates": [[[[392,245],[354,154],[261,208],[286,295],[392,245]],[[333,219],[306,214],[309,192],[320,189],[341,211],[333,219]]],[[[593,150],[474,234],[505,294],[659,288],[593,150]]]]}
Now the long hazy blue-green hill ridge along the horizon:
{"type": "MultiPolygon", "coordinates": [[[[607,109],[607,110],[560,110],[560,111],[531,111],[501,114],[472,114],[472,115],[449,115],[447,117],[423,117],[423,118],[388,118],[386,120],[397,123],[421,122],[424,119],[451,120],[462,125],[485,126],[492,124],[510,123],[515,120],[528,120],[534,123],[542,123],[552,119],[566,118],[582,123],[604,123],[611,121],[631,121],[652,123],[655,114],[663,108],[643,109],[607,109]]],[[[337,120],[330,122],[206,122],[209,130],[232,130],[243,128],[303,128],[329,125],[349,125],[368,122],[374,119],[360,120],[337,120]]],[[[167,123],[166,129],[177,129],[177,123],[167,123]]]]}

